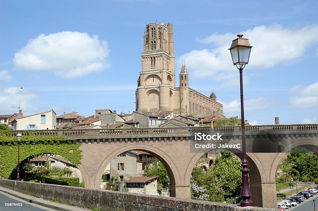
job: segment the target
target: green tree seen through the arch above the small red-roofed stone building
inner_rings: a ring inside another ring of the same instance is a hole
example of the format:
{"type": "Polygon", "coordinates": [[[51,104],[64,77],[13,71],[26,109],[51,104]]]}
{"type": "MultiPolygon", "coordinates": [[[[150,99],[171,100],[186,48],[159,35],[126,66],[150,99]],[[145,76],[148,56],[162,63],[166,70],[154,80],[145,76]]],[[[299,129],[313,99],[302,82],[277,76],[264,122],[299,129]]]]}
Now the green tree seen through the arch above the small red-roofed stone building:
{"type": "Polygon", "coordinates": [[[158,178],[158,190],[167,188],[169,186],[168,172],[162,162],[152,162],[151,166],[147,166],[145,169],[146,176],[159,176],[158,178]],[[160,186],[159,186],[160,185],[160,186]],[[162,187],[162,188],[160,188],[162,187]]]}

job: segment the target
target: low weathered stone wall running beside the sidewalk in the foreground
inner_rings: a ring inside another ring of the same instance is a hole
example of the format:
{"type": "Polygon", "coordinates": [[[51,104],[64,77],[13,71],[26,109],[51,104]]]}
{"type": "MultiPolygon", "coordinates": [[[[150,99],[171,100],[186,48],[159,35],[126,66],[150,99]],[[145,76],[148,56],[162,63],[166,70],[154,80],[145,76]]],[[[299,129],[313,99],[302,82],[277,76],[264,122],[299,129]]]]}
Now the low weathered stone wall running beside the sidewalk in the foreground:
{"type": "Polygon", "coordinates": [[[274,211],[271,208],[240,208],[233,204],[77,188],[35,182],[0,180],[0,186],[38,198],[50,199],[100,211],[274,211]]]}

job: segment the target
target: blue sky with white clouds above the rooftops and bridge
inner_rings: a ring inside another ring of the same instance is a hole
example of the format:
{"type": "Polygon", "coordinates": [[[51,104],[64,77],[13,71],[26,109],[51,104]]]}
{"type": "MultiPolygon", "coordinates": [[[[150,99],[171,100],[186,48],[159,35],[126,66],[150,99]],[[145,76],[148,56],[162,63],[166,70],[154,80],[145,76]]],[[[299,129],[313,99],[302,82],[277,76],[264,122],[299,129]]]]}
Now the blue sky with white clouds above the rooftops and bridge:
{"type": "MultiPolygon", "coordinates": [[[[173,23],[176,74],[241,116],[229,52],[253,46],[243,70],[245,120],[318,123],[318,1],[0,1],[0,114],[135,110],[143,32],[173,23]],[[21,89],[22,88],[22,89],[21,89]]],[[[178,77],[176,77],[178,78],[178,77]]],[[[179,82],[176,81],[176,86],[179,82]]]]}

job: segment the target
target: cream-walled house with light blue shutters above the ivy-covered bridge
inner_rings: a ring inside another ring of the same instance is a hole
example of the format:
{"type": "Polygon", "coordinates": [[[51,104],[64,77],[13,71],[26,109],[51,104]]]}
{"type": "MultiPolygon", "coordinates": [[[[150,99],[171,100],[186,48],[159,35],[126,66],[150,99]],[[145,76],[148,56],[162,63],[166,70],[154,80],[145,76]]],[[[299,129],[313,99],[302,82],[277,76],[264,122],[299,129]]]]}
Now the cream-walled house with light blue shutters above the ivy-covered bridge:
{"type": "Polygon", "coordinates": [[[28,116],[18,116],[13,122],[14,130],[56,129],[56,113],[53,110],[28,116]]]}

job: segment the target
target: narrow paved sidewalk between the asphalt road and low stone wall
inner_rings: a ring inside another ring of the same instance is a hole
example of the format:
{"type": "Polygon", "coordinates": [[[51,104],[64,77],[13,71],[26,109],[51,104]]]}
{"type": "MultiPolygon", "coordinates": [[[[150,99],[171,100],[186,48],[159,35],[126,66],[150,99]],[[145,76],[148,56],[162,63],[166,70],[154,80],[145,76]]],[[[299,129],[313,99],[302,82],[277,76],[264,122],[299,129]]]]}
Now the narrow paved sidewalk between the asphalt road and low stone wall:
{"type": "Polygon", "coordinates": [[[66,205],[66,204],[59,204],[56,202],[52,202],[52,201],[48,201],[48,200],[44,200],[41,198],[37,198],[34,196],[30,196],[30,195],[25,195],[22,194],[20,192],[8,189],[8,188],[3,188],[0,187],[0,191],[9,195],[12,195],[14,197],[17,197],[19,199],[22,199],[24,201],[30,202],[30,203],[34,203],[46,208],[51,208],[54,210],[59,210],[59,211],[92,211],[91,209],[84,209],[84,208],[79,208],[79,207],[75,207],[75,206],[70,206],[70,205],[66,205]]]}

